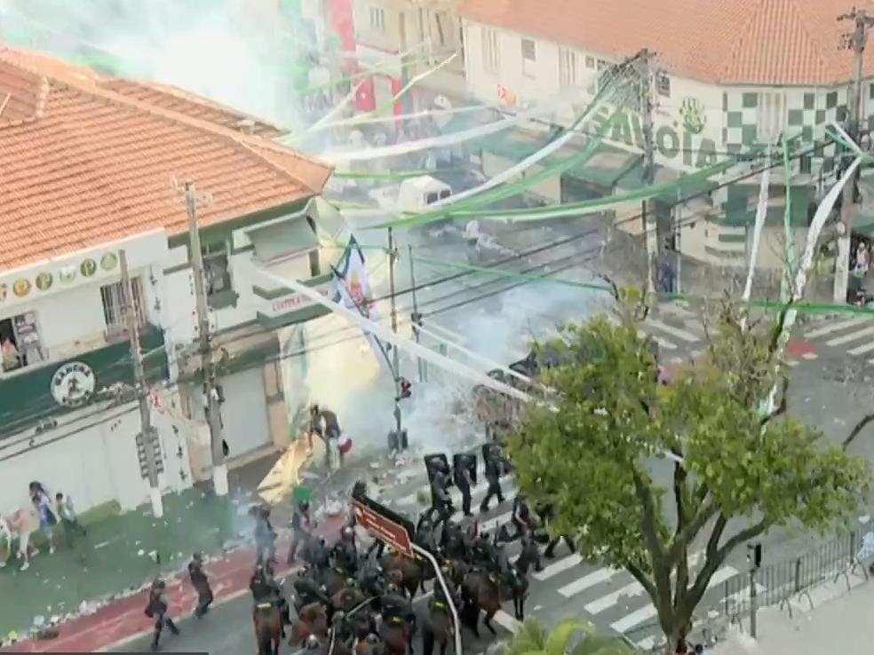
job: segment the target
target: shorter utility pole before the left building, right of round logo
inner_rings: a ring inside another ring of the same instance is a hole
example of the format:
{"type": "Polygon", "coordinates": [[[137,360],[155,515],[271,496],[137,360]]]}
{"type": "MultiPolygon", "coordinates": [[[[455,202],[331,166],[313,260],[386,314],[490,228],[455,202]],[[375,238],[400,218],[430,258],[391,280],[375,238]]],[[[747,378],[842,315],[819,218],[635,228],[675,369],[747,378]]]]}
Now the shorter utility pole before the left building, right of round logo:
{"type": "Polygon", "coordinates": [[[143,368],[143,352],[139,340],[139,312],[134,302],[131,272],[128,271],[127,253],[118,251],[118,262],[122,269],[122,288],[124,294],[124,320],[127,322],[128,338],[131,341],[131,359],[133,360],[133,379],[136,384],[137,400],[139,401],[139,434],[137,435],[137,452],[140,456],[140,467],[145,468],[144,476],[148,478],[149,499],[152,501],[152,514],[155,518],[163,517],[163,500],[161,485],[158,482],[161,462],[161,446],[158,434],[152,427],[152,410],[149,407],[148,385],[146,372],[143,368]],[[143,464],[145,463],[145,467],[143,464]]]}

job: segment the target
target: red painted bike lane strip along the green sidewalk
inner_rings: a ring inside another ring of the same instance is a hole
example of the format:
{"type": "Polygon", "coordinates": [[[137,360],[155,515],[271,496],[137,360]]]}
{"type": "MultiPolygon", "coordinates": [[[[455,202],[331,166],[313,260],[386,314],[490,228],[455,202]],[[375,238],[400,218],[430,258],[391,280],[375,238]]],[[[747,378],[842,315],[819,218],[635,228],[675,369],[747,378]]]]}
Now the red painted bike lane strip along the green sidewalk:
{"type": "MultiPolygon", "coordinates": [[[[326,539],[336,537],[343,523],[342,517],[327,520],[316,533],[326,539]]],[[[289,541],[277,540],[280,554],[287,551],[289,541]]],[[[280,556],[282,560],[282,556],[280,556]]],[[[220,560],[210,562],[206,570],[210,577],[214,604],[220,604],[249,588],[252,566],[255,562],[254,548],[239,548],[229,552],[220,560]]],[[[294,567],[286,567],[284,562],[277,573],[284,574],[294,567]]],[[[167,599],[173,618],[189,614],[194,610],[197,595],[187,580],[186,574],[167,580],[167,599]]],[[[13,643],[0,652],[94,652],[123,641],[127,637],[139,635],[151,629],[152,620],[143,611],[146,608],[147,591],[121,598],[101,607],[91,616],[83,616],[58,626],[60,636],[48,640],[27,639],[13,643]]]]}

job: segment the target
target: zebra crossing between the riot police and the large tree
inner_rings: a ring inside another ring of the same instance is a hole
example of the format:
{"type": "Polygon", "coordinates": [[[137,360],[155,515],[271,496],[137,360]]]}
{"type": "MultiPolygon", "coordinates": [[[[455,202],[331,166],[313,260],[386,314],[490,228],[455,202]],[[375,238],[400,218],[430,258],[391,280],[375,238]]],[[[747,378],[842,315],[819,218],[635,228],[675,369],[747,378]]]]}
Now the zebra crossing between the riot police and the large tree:
{"type": "MultiPolygon", "coordinates": [[[[415,483],[414,483],[415,484],[415,483]]],[[[504,502],[478,514],[481,530],[491,532],[500,525],[510,522],[512,499],[516,495],[512,478],[502,480],[505,487],[504,502]]],[[[488,485],[481,483],[472,489],[472,511],[478,512],[479,504],[487,493],[488,485]]],[[[417,502],[422,494],[430,496],[425,480],[411,492],[398,490],[397,495],[380,498],[381,502],[393,509],[413,517],[419,509],[417,502]]],[[[460,507],[460,494],[452,489],[453,502],[460,507]]],[[[505,547],[511,561],[519,554],[519,543],[512,542],[505,547]]],[[[644,588],[632,575],[621,569],[613,569],[584,560],[582,556],[569,553],[563,545],[556,550],[553,560],[544,559],[544,569],[531,574],[531,604],[545,612],[547,620],[561,619],[569,614],[584,612],[585,618],[592,620],[600,629],[625,635],[641,649],[652,650],[662,638],[657,625],[656,608],[644,588]]],[[[701,562],[702,554],[690,556],[690,566],[694,569],[701,562]]],[[[725,565],[713,575],[700,607],[706,608],[723,601],[723,584],[742,573],[733,566],[725,565]]],[[[762,591],[763,589],[759,589],[762,591]]],[[[530,608],[528,608],[530,612],[530,608]]],[[[507,612],[499,612],[495,618],[498,626],[515,631],[519,623],[507,612]]]]}

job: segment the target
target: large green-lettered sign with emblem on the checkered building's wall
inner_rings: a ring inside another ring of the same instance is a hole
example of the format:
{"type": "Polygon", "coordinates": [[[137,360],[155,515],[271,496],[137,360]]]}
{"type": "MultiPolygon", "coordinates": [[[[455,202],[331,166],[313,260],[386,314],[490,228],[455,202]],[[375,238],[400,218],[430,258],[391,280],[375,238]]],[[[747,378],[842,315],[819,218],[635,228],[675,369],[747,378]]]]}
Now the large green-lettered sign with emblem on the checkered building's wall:
{"type": "MultiPolygon", "coordinates": [[[[582,107],[576,107],[582,111],[582,107]]],[[[598,130],[610,118],[613,108],[599,107],[584,127],[585,132],[598,130]]],[[[687,98],[679,109],[679,120],[656,124],[653,133],[656,153],[671,165],[681,164],[687,168],[706,169],[719,163],[716,141],[702,137],[707,126],[704,107],[696,99],[687,98]]],[[[643,150],[645,147],[640,114],[619,112],[613,117],[607,138],[626,146],[643,150]]]]}

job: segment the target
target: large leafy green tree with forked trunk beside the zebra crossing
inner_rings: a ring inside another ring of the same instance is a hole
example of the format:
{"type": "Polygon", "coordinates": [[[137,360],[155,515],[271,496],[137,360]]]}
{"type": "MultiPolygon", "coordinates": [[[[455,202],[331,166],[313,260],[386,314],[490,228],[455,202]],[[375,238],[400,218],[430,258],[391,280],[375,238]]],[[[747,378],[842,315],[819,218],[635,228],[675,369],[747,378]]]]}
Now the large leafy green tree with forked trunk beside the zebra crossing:
{"type": "Polygon", "coordinates": [[[787,414],[785,380],[763,414],[780,388],[783,317],[748,330],[724,309],[707,354],[669,385],[656,382],[636,308],[535,344],[561,363],[538,375],[544,402],[522,409],[509,438],[520,492],[554,505],[552,533],[640,582],[669,644],[736,547],[774,526],[825,532],[870,491],[867,461],[787,414]]]}

